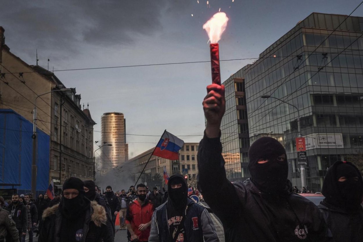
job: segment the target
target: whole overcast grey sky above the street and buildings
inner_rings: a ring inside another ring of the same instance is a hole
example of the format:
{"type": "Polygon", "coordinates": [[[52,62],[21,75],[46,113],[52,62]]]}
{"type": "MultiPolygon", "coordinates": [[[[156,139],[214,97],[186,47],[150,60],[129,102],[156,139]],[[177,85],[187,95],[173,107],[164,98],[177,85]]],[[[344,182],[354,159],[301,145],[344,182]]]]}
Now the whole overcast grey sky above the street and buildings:
{"type": "MultiPolygon", "coordinates": [[[[0,26],[12,53],[49,69],[95,68],[208,61],[203,24],[221,11],[229,17],[221,59],[254,58],[312,12],[348,15],[360,0],[1,0],[0,26]],[[193,16],[192,16],[193,15],[193,16]]],[[[363,7],[353,16],[363,16],[363,7]]],[[[252,61],[221,62],[222,81],[252,61]]],[[[122,112],[127,134],[161,135],[199,142],[201,102],[211,83],[210,63],[55,72],[75,87],[97,125],[122,112]]],[[[98,131],[98,132],[97,132],[98,131]]],[[[129,157],[156,145],[159,137],[127,136],[129,157]]]]}

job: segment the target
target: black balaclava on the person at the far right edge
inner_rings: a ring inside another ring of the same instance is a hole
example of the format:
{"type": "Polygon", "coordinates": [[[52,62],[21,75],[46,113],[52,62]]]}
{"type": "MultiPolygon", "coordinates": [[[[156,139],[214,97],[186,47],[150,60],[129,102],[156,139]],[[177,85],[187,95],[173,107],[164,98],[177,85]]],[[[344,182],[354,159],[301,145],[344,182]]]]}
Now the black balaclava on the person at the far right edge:
{"type": "Polygon", "coordinates": [[[322,193],[326,203],[346,210],[359,209],[363,200],[362,175],[351,162],[337,161],[326,173],[322,193]],[[339,182],[340,177],[346,177],[347,180],[339,182]],[[358,181],[353,177],[358,177],[358,181]]]}

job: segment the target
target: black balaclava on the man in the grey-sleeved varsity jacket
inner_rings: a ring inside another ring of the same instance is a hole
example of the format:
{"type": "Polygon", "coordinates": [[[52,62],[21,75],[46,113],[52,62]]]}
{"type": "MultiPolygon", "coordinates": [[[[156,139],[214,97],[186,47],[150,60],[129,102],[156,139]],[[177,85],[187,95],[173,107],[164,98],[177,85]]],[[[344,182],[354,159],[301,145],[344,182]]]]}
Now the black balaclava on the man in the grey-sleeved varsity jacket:
{"type": "Polygon", "coordinates": [[[188,185],[181,174],[174,174],[168,181],[168,205],[176,210],[185,209],[187,206],[188,185]],[[181,184],[180,188],[171,188],[171,185],[181,184]]]}

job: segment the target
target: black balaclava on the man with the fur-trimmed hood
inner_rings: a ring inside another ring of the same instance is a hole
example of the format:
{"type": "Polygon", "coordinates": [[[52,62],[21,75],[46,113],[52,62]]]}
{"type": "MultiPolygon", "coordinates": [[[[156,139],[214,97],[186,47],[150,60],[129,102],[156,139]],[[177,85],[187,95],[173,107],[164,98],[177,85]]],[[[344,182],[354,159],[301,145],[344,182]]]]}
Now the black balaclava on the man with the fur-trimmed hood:
{"type": "Polygon", "coordinates": [[[65,189],[77,189],[79,194],[77,197],[69,199],[62,196],[61,211],[67,218],[77,217],[79,213],[87,209],[90,203],[89,199],[85,198],[84,183],[77,177],[67,179],[63,184],[63,192],[65,189]]]}

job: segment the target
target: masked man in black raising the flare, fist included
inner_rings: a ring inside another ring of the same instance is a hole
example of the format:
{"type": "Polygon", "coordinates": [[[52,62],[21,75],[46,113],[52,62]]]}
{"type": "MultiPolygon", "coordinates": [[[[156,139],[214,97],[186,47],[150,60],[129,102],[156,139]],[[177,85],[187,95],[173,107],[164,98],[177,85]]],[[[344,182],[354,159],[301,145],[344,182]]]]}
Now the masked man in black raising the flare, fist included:
{"type": "Polygon", "coordinates": [[[207,91],[203,101],[207,125],[198,151],[198,186],[221,219],[225,240],[331,240],[325,237],[327,227],[317,206],[292,193],[291,182],[287,180],[286,152],[274,138],[263,137],[250,146],[250,179],[233,184],[228,181],[220,142],[224,86],[212,84],[207,91]]]}

